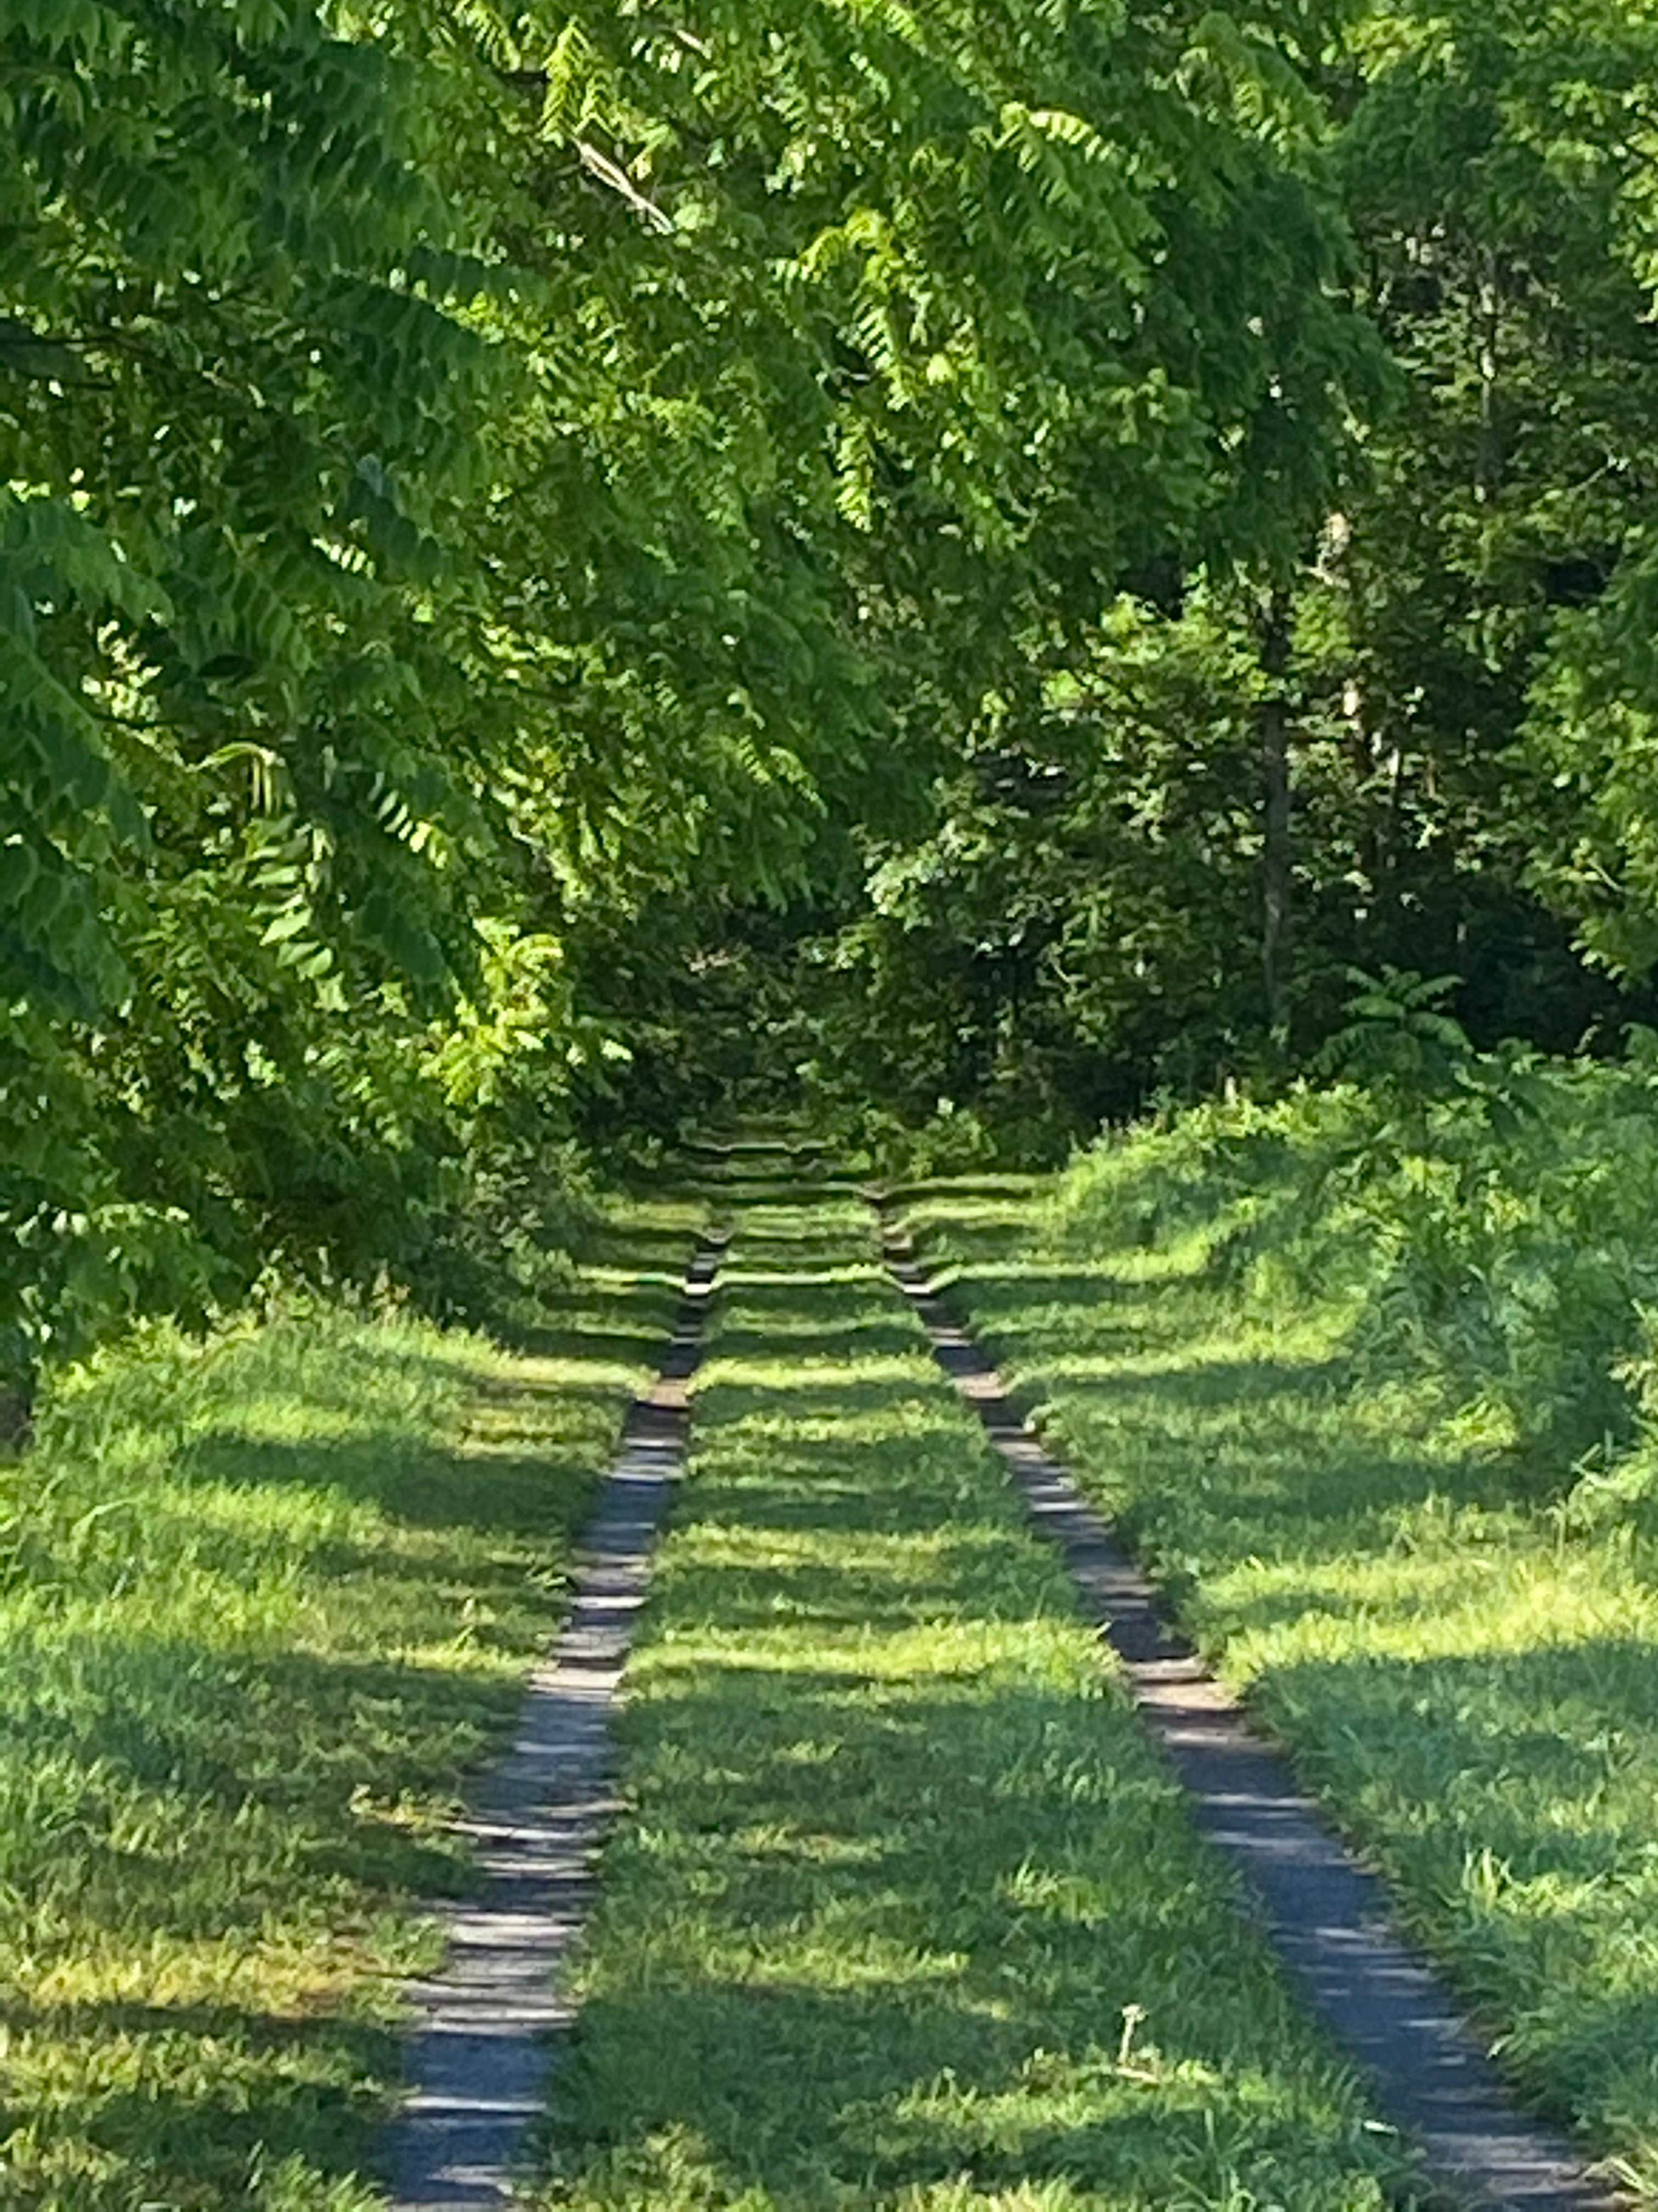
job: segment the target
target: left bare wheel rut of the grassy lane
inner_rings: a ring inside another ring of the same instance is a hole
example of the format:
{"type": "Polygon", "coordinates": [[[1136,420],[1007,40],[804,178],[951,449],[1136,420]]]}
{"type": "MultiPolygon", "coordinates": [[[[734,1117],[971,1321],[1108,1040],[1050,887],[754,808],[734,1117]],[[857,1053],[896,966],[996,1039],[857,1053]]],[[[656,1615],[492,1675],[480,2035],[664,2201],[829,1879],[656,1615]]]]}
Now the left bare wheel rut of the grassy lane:
{"type": "Polygon", "coordinates": [[[568,2024],[559,1980],[612,1812],[610,1705],[685,1455],[688,1383],[721,1250],[705,1239],[685,1272],[661,1374],[628,1416],[581,1540],[564,1632],[531,1677],[513,1750],[464,1823],[486,1889],[444,1916],[444,1969],[411,1991],[411,2093],[389,2143],[396,2212],[513,2201],[524,2132],[546,2101],[546,2037],[568,2024]]]}

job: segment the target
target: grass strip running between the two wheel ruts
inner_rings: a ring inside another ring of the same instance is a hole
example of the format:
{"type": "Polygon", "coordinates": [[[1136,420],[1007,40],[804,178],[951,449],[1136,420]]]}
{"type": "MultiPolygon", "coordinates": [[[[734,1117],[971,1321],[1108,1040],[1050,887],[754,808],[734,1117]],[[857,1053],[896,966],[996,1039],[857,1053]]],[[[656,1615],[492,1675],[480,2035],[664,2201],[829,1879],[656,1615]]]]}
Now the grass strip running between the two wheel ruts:
{"type": "Polygon", "coordinates": [[[1379,2208],[864,1210],[754,1208],[723,1281],[537,2203],[1379,2208]]]}

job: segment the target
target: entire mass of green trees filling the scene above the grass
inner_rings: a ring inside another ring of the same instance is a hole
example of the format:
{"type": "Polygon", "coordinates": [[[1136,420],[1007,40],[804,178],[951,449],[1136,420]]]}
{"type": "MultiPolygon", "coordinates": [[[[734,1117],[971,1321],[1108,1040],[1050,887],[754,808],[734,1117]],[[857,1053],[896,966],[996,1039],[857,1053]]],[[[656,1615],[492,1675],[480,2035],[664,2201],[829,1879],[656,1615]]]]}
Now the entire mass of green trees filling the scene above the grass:
{"type": "Polygon", "coordinates": [[[1658,7],[0,53],[11,1420],[135,1312],[478,1312],[732,1106],[1645,1110],[1658,7]]]}

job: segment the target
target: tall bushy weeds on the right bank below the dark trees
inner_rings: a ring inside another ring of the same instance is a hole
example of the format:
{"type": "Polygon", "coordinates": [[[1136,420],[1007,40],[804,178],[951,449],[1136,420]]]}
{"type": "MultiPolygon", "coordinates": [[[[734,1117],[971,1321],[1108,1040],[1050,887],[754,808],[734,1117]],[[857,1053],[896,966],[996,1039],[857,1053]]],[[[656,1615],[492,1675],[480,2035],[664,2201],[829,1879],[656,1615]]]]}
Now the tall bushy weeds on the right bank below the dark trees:
{"type": "Polygon", "coordinates": [[[1477,1053],[1444,989],[1364,991],[1324,1082],[1103,1139],[1048,1230],[1183,1248],[1256,1321],[1340,1314],[1357,1378],[1430,1378],[1470,1442],[1601,1482],[1658,1402],[1658,1037],[1477,1053]]]}

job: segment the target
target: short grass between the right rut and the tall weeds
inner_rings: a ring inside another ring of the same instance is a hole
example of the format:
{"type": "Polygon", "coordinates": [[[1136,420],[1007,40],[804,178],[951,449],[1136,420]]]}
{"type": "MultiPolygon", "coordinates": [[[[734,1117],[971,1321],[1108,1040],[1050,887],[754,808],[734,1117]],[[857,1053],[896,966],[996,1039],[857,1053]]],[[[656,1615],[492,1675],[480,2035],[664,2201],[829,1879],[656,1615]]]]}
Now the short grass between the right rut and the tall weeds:
{"type": "Polygon", "coordinates": [[[1658,2201],[1658,1551],[1355,1363],[1340,1301],[1258,1310],[1196,1234],[1048,1241],[1039,1199],[909,1219],[1517,2084],[1658,2201]]]}

